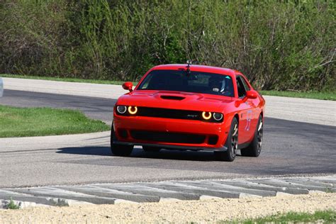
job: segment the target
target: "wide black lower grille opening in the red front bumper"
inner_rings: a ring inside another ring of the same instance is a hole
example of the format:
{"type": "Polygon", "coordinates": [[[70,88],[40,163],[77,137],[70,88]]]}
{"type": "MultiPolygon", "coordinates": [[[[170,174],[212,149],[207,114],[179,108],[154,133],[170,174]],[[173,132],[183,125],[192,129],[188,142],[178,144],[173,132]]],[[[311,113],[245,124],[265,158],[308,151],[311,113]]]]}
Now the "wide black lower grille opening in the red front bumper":
{"type": "Polygon", "coordinates": [[[205,135],[165,133],[147,130],[131,130],[130,135],[136,140],[146,140],[152,142],[201,144],[206,140],[205,135]]]}

